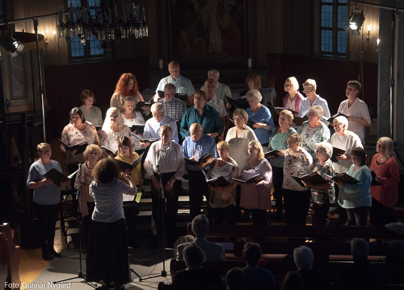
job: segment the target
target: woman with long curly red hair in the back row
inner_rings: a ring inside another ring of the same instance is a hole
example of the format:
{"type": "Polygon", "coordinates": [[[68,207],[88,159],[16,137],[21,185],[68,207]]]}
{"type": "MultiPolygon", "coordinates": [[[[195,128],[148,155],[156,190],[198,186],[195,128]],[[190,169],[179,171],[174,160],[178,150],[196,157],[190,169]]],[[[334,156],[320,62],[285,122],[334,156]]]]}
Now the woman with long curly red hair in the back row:
{"type": "MultiPolygon", "coordinates": [[[[122,74],[119,78],[117,86],[115,87],[114,95],[111,98],[110,107],[118,108],[119,110],[123,107],[123,98],[131,96],[137,102],[144,102],[142,95],[139,93],[139,88],[137,87],[137,81],[135,76],[131,73],[122,74]]],[[[150,108],[147,106],[142,107],[144,114],[147,116],[150,113],[150,108]]]]}

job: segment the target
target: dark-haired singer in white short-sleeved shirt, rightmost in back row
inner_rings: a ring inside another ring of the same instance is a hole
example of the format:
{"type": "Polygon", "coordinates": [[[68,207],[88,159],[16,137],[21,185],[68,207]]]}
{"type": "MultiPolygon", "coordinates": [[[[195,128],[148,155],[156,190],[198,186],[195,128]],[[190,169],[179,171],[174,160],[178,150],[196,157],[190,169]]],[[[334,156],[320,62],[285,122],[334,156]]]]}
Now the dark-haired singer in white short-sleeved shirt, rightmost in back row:
{"type": "Polygon", "coordinates": [[[358,81],[349,81],[345,90],[348,98],[339,105],[338,112],[348,116],[349,131],[359,136],[363,143],[365,138],[365,127],[372,122],[369,115],[368,105],[359,99],[362,85],[358,81]]]}

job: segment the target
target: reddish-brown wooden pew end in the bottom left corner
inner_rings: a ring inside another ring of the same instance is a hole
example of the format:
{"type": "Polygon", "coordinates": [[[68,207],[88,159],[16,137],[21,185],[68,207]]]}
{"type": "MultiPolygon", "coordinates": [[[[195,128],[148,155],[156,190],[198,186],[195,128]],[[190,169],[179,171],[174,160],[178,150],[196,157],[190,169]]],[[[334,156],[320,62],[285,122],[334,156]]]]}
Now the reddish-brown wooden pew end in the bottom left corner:
{"type": "MultiPolygon", "coordinates": [[[[19,285],[21,280],[18,266],[20,265],[21,248],[14,245],[9,224],[5,223],[0,226],[0,233],[0,264],[7,265],[7,282],[19,285]]],[[[20,287],[12,289],[20,289],[20,287]]]]}

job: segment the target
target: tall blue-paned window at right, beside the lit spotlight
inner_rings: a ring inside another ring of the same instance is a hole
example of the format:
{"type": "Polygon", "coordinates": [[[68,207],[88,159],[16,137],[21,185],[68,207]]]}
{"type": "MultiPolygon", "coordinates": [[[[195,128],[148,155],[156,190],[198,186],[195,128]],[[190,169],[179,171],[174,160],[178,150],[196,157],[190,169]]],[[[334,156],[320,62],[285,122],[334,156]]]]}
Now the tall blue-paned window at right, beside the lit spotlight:
{"type": "Polygon", "coordinates": [[[348,0],[317,0],[315,49],[317,56],[347,59],[349,37],[344,30],[348,23],[348,0]]]}

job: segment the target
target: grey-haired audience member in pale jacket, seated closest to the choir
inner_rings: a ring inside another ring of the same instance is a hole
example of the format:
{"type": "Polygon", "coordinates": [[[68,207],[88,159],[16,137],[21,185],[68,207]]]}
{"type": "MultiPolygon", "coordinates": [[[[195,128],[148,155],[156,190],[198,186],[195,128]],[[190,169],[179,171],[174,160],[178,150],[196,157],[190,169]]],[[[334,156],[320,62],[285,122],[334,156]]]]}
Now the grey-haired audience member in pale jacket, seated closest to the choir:
{"type": "Polygon", "coordinates": [[[192,220],[192,232],[195,234],[195,239],[193,239],[193,236],[185,236],[179,238],[176,242],[176,244],[178,244],[178,261],[184,260],[183,250],[190,244],[198,245],[205,252],[207,261],[226,261],[226,254],[224,252],[223,246],[216,243],[208,242],[206,240],[206,234],[209,232],[209,221],[205,215],[199,214],[195,216],[195,218],[192,220]]]}

